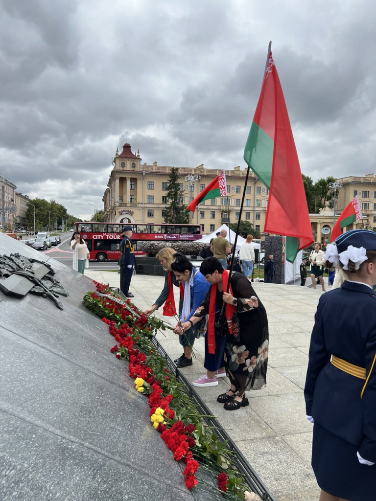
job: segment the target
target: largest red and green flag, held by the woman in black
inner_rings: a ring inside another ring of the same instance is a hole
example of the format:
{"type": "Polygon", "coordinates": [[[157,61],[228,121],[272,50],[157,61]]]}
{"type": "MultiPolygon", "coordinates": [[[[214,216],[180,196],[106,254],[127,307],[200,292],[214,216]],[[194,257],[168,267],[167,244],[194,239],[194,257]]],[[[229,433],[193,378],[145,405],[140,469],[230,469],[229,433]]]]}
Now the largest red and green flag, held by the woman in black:
{"type": "Polygon", "coordinates": [[[313,243],[307,200],[282,87],[269,50],[244,160],[270,189],[264,232],[286,235],[286,259],[313,243]]]}

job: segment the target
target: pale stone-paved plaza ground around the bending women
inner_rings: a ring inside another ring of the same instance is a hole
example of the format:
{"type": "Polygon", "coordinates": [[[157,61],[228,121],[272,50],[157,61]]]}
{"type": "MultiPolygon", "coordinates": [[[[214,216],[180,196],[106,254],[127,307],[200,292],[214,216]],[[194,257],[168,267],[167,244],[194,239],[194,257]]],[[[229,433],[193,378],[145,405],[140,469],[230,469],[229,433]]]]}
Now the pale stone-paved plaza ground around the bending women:
{"type": "MultiPolygon", "coordinates": [[[[85,275],[119,287],[117,273],[89,269],[85,275]]],[[[142,310],[151,306],[163,282],[163,277],[134,275],[130,287],[134,304],[142,310]]],[[[319,488],[310,466],[312,424],[305,418],[303,388],[314,314],[322,292],[277,284],[253,286],[269,320],[266,388],[248,392],[251,404],[237,412],[225,411],[217,402],[217,396],[229,386],[227,378],[219,379],[218,386],[198,391],[277,501],[317,501],[319,488]]],[[[174,289],[177,301],[178,290],[174,289]]],[[[155,314],[161,317],[158,311],[155,314]]],[[[173,323],[169,317],[163,319],[173,323]]],[[[172,332],[158,339],[172,358],[181,355],[172,332]]],[[[195,343],[195,354],[193,366],[181,369],[191,381],[206,372],[202,339],[195,343]]]]}

